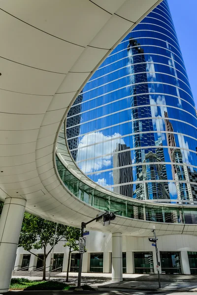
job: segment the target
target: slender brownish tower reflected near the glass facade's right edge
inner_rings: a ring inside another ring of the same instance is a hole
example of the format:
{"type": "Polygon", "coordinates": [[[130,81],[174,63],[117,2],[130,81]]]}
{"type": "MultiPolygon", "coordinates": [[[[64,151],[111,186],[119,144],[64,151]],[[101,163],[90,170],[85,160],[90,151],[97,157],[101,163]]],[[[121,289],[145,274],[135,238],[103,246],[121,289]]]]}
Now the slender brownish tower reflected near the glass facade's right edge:
{"type": "MultiPolygon", "coordinates": [[[[164,112],[165,116],[165,130],[167,136],[167,145],[169,147],[176,147],[175,138],[173,132],[172,123],[169,121],[167,112],[164,112]]],[[[192,198],[192,192],[191,192],[191,186],[190,183],[188,183],[189,175],[188,175],[188,169],[186,165],[178,165],[183,164],[183,156],[181,153],[180,148],[169,148],[168,149],[170,160],[173,163],[171,165],[172,167],[172,175],[175,180],[177,180],[176,183],[176,189],[177,189],[177,195],[179,200],[193,200],[192,198]],[[176,163],[176,164],[174,164],[176,163]],[[183,181],[187,182],[183,182],[183,181]],[[182,181],[182,182],[180,182],[182,181]]]]}

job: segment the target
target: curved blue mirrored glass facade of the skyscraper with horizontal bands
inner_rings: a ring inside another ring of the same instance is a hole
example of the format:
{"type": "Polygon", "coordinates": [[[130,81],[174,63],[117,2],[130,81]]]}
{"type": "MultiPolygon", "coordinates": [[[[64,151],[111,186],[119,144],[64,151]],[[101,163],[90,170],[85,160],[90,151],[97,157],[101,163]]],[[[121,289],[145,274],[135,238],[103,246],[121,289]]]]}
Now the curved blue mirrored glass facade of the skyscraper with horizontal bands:
{"type": "Polygon", "coordinates": [[[99,185],[197,201],[197,115],[166,0],[100,65],[65,125],[73,159],[99,185]]]}

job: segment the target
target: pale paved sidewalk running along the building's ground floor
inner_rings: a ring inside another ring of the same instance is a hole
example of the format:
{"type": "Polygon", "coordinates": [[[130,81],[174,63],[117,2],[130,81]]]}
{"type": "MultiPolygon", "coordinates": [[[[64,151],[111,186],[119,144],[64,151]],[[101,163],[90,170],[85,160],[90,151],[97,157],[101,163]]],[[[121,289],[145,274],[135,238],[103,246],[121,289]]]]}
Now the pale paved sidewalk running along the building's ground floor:
{"type": "MultiPolygon", "coordinates": [[[[21,277],[21,276],[13,276],[21,277]]],[[[23,276],[27,277],[27,276],[23,276]]],[[[27,277],[31,280],[41,280],[40,276],[27,277]]],[[[161,275],[162,289],[158,290],[156,274],[123,274],[123,282],[112,282],[111,273],[82,273],[82,284],[102,289],[130,289],[143,291],[178,291],[197,292],[197,275],[161,275]]],[[[58,273],[51,277],[58,281],[66,281],[66,273],[58,273]]],[[[69,273],[69,283],[77,283],[77,273],[69,273]]]]}

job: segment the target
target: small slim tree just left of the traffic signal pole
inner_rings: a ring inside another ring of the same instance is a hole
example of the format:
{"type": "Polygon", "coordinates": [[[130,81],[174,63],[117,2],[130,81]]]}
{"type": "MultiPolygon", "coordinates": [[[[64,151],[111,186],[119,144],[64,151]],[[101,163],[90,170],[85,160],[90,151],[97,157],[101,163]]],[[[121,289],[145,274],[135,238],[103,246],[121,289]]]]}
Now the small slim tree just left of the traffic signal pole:
{"type": "Polygon", "coordinates": [[[69,272],[69,268],[70,268],[70,255],[73,251],[79,251],[78,242],[79,242],[80,234],[81,234],[80,229],[76,229],[71,226],[68,226],[66,229],[66,243],[65,243],[64,247],[69,248],[66,282],[68,282],[68,272],[69,272]]]}

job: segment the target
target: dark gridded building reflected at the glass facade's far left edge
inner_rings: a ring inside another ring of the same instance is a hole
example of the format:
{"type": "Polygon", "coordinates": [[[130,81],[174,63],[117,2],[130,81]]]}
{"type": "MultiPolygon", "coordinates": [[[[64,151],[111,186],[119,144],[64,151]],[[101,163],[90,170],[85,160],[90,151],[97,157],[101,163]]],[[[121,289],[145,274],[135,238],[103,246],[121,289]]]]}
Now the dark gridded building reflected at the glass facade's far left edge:
{"type": "Polygon", "coordinates": [[[72,138],[72,140],[68,141],[68,147],[71,149],[71,155],[73,159],[76,161],[77,159],[77,149],[78,148],[78,136],[80,133],[80,121],[81,121],[81,102],[83,100],[83,94],[79,94],[74,101],[74,106],[70,108],[67,114],[67,121],[65,120],[66,124],[66,137],[67,139],[72,138]],[[76,126],[75,126],[76,125],[76,126]],[[72,127],[73,126],[73,127],[72,127]],[[72,127],[72,128],[69,128],[72,127]],[[74,149],[74,150],[72,150],[74,149]]]}

